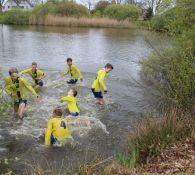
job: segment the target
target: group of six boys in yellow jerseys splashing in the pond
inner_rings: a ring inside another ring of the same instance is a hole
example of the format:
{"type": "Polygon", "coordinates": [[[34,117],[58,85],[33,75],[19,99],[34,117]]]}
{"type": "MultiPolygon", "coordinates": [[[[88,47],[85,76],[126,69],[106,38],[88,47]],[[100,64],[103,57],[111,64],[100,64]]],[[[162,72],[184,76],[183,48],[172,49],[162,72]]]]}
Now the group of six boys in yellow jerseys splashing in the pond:
{"type": "MultiPolygon", "coordinates": [[[[76,84],[80,79],[83,81],[83,75],[81,71],[72,64],[72,59],[67,58],[67,71],[62,75],[70,75],[71,79],[67,81],[68,84],[76,84]]],[[[104,82],[104,78],[107,73],[113,69],[113,66],[109,63],[105,67],[98,71],[96,79],[92,83],[92,93],[97,99],[97,103],[104,104],[103,92],[107,94],[107,87],[104,82]],[[103,92],[102,92],[103,91],[103,92]]],[[[25,107],[27,105],[27,95],[25,89],[32,93],[35,97],[35,102],[39,103],[40,97],[37,94],[37,87],[43,86],[43,79],[46,77],[44,72],[38,69],[37,63],[33,62],[31,67],[19,72],[17,68],[9,69],[9,76],[5,79],[5,91],[14,101],[14,113],[20,119],[23,119],[25,107]],[[21,76],[23,74],[29,75],[34,81],[34,85],[31,86],[21,76]]],[[[71,88],[68,91],[67,96],[62,97],[59,101],[61,103],[66,102],[69,111],[68,117],[62,117],[62,109],[57,107],[54,109],[52,118],[48,121],[47,129],[45,129],[45,145],[52,145],[60,143],[63,140],[71,137],[70,122],[68,118],[79,117],[79,109],[76,101],[77,91],[71,88]]]]}

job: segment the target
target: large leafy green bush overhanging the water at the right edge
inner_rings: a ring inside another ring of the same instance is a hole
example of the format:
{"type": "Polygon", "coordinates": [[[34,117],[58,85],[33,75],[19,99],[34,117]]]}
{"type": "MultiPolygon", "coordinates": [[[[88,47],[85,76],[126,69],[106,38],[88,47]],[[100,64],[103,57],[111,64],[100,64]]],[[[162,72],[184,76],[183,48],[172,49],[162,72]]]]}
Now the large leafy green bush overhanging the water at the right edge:
{"type": "Polygon", "coordinates": [[[174,105],[183,110],[192,109],[195,97],[193,35],[184,34],[178,40],[177,47],[162,53],[154,52],[147,60],[141,62],[141,75],[159,92],[158,101],[163,106],[174,105]]]}

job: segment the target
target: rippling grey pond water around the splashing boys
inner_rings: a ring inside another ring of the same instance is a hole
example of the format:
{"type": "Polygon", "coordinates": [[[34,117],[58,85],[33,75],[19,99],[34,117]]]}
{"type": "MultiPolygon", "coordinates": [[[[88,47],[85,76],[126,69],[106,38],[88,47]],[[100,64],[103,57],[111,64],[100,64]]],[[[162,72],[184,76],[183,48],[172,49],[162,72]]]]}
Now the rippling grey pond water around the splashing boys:
{"type": "Polygon", "coordinates": [[[31,163],[34,159],[45,169],[48,164],[58,168],[64,165],[63,171],[67,172],[84,162],[116,155],[132,120],[139,117],[146,105],[143,90],[133,81],[139,82],[139,60],[151,52],[145,38],[156,47],[169,45],[166,38],[138,30],[0,26],[0,65],[4,76],[9,67],[22,70],[32,61],[38,62],[48,75],[40,92],[41,104],[37,106],[29,98],[23,122],[14,119],[11,110],[1,116],[0,156],[11,153],[31,163]],[[91,123],[73,128],[76,147],[45,149],[40,138],[42,129],[53,108],[64,107],[58,100],[70,88],[60,77],[67,57],[72,57],[84,73],[84,82],[75,88],[81,116],[91,123]],[[107,62],[114,65],[114,70],[106,79],[109,90],[106,105],[100,107],[94,103],[90,87],[98,69],[107,62]]]}

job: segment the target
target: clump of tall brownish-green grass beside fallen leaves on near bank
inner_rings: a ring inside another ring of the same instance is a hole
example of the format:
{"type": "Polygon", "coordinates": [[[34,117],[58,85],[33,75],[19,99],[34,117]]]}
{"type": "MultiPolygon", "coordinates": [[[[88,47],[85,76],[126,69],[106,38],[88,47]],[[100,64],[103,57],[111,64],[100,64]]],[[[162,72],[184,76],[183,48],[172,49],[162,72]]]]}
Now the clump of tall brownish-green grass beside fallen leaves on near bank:
{"type": "Polygon", "coordinates": [[[140,163],[147,163],[171,143],[190,137],[194,126],[194,118],[179,109],[147,115],[129,134],[128,145],[139,150],[140,163]]]}

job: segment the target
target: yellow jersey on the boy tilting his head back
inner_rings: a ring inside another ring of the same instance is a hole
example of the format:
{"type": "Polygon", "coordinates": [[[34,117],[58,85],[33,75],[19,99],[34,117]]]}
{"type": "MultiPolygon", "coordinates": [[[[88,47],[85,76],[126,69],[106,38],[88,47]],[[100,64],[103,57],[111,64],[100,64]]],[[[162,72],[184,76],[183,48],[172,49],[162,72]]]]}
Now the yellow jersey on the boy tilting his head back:
{"type": "Polygon", "coordinates": [[[66,102],[67,103],[68,110],[69,110],[70,113],[76,113],[76,112],[79,113],[79,109],[77,107],[77,101],[76,101],[75,97],[72,97],[72,96],[62,97],[60,99],[60,102],[61,103],[66,102]]]}

